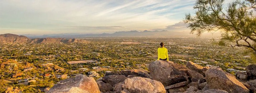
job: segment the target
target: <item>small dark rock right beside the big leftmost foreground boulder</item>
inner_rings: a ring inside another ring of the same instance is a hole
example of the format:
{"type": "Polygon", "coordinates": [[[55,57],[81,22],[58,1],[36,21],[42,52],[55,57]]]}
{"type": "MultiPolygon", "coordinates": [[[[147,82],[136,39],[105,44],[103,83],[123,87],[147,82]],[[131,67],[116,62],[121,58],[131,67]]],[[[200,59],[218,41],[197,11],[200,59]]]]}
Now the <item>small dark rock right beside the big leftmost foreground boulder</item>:
{"type": "Polygon", "coordinates": [[[104,83],[103,81],[98,80],[97,84],[101,92],[108,92],[113,90],[112,85],[104,83]]]}

